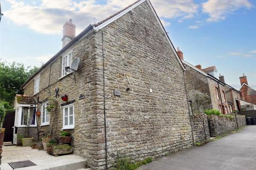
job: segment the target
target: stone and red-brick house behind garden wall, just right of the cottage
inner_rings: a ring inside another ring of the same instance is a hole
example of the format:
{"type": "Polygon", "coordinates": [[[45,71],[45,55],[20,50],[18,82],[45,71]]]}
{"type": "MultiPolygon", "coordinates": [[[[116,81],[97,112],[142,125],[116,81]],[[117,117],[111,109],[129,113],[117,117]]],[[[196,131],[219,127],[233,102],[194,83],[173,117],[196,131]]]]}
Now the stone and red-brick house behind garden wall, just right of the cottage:
{"type": "Polygon", "coordinates": [[[177,50],[186,67],[185,82],[192,113],[204,113],[205,109],[217,109],[222,114],[237,110],[236,99],[240,92],[225,83],[224,77],[217,77],[215,66],[202,69],[201,65],[192,65],[183,60],[183,53],[177,50]],[[200,98],[203,98],[201,101],[200,98]],[[207,103],[205,101],[208,101],[207,103]]]}

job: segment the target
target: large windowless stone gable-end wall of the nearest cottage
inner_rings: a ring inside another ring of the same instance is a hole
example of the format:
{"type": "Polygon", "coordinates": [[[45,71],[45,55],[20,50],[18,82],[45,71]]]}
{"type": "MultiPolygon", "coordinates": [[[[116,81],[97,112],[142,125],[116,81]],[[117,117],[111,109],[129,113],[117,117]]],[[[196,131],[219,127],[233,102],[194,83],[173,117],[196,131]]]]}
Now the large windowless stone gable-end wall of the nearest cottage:
{"type": "MultiPolygon", "coordinates": [[[[141,160],[191,147],[182,67],[147,2],[102,31],[109,164],[118,155],[141,160]],[[128,87],[130,90],[126,91],[128,87]],[[120,96],[115,96],[114,90],[120,96]]],[[[97,47],[101,49],[101,31],[97,37],[97,47]]],[[[99,73],[99,90],[102,90],[102,67],[99,73]]],[[[103,106],[102,96],[99,101],[103,106]]],[[[103,107],[97,111],[99,122],[103,122],[103,116],[100,118],[103,107]]],[[[105,148],[104,140],[99,142],[105,148]]],[[[104,158],[102,151],[99,155],[102,164],[104,158]]]]}

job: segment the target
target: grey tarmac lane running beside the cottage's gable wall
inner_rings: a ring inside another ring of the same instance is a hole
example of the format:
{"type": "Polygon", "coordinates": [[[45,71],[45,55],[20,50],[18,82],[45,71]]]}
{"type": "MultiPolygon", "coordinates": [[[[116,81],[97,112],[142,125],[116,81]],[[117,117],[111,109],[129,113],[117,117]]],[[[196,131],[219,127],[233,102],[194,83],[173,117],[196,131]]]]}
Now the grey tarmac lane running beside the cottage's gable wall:
{"type": "Polygon", "coordinates": [[[256,125],[206,145],[143,165],[139,170],[255,170],[256,125]]]}

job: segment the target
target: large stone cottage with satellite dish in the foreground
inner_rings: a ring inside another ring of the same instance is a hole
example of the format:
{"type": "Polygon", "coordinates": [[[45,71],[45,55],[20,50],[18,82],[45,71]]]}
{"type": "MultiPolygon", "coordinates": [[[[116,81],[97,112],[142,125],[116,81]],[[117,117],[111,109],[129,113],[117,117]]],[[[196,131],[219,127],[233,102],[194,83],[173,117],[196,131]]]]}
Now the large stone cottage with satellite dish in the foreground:
{"type": "Polygon", "coordinates": [[[93,169],[106,169],[118,156],[141,160],[192,145],[186,69],[148,0],[76,37],[70,20],[62,43],[22,86],[39,101],[41,130],[69,130],[74,153],[93,169]],[[49,114],[52,100],[57,107],[49,114]]]}

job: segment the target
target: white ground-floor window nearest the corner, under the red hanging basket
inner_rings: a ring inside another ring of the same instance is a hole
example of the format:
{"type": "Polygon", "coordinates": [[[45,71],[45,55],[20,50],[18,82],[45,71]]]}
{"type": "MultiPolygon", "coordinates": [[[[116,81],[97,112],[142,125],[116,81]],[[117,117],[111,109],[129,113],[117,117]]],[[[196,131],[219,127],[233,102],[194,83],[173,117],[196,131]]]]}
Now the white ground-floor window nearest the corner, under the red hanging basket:
{"type": "Polygon", "coordinates": [[[63,129],[75,128],[74,104],[63,107],[63,129]]]}

